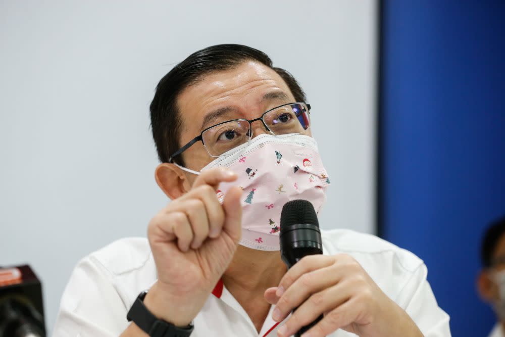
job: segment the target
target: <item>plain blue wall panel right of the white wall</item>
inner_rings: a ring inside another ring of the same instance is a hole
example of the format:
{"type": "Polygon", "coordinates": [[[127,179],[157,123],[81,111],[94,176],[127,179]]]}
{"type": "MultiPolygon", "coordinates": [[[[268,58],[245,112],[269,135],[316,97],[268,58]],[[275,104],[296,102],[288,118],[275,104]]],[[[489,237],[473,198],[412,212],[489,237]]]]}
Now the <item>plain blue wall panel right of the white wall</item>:
{"type": "Polygon", "coordinates": [[[384,1],[379,231],[421,257],[453,336],[494,323],[475,278],[505,214],[505,2],[384,1]]]}

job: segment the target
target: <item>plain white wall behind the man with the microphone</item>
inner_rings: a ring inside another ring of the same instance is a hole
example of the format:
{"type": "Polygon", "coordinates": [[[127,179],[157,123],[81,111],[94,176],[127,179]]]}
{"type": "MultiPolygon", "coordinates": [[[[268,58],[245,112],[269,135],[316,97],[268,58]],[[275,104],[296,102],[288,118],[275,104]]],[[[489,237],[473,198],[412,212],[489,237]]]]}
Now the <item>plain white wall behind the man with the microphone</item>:
{"type": "Polygon", "coordinates": [[[27,262],[52,331],[84,255],[166,203],[148,106],[192,52],[242,43],[294,74],[333,185],[323,228],[374,228],[376,4],[0,2],[0,265],[27,262]]]}

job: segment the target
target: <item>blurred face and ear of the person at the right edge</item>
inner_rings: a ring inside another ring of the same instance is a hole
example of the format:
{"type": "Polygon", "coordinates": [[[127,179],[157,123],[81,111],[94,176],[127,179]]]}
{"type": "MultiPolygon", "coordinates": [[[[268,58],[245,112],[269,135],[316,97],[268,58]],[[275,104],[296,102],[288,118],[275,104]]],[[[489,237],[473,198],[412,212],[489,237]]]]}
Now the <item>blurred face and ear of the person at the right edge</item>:
{"type": "Polygon", "coordinates": [[[482,271],[478,280],[481,297],[489,303],[500,299],[499,287],[496,284],[496,273],[505,270],[505,234],[502,234],[491,257],[491,261],[500,261],[491,268],[482,271]]]}

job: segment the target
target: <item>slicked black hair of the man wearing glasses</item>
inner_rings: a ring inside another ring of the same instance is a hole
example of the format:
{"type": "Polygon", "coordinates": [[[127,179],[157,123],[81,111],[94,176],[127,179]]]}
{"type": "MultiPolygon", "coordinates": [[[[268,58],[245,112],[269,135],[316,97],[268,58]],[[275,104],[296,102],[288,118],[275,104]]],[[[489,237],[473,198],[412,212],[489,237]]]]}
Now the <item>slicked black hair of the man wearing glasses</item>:
{"type": "MultiPolygon", "coordinates": [[[[240,44],[218,44],[195,52],[160,80],[149,107],[153,138],[162,163],[168,162],[169,156],[181,146],[179,137],[182,119],[177,98],[182,90],[204,75],[229,70],[249,60],[273,69],[286,82],[296,102],[306,101],[305,92],[295,78],[286,70],[273,67],[268,55],[257,49],[240,44]]],[[[175,157],[174,162],[184,165],[181,156],[175,157]]]]}

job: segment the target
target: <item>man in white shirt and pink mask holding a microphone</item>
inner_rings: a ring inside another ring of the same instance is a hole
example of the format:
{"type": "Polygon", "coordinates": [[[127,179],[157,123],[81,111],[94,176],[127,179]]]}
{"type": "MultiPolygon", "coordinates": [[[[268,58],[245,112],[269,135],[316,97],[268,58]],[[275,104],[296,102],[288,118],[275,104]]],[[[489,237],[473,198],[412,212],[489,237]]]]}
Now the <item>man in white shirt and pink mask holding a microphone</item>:
{"type": "Polygon", "coordinates": [[[147,240],[77,265],[56,335],[286,337],[324,314],[304,336],[450,336],[424,263],[373,235],[322,231],[324,255],[286,270],[270,220],[293,199],[318,211],[330,179],[304,91],[267,55],[198,51],[160,81],[150,111],[172,202],[147,240]]]}

